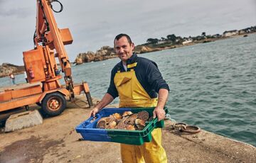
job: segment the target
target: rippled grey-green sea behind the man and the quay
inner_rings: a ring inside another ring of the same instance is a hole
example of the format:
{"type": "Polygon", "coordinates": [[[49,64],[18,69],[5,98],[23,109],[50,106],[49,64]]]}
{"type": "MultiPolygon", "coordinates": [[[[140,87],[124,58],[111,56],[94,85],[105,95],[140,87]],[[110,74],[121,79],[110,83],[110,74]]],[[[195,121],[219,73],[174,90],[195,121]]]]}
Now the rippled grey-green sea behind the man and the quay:
{"type": "MultiPolygon", "coordinates": [[[[154,60],[169,84],[171,118],[256,146],[255,52],[253,34],[139,56],[154,60]]],[[[73,79],[87,81],[91,95],[102,98],[117,62],[74,66],[73,79]]],[[[23,74],[16,75],[17,83],[24,81],[23,74]]],[[[7,85],[11,80],[1,78],[0,86],[7,85]]]]}

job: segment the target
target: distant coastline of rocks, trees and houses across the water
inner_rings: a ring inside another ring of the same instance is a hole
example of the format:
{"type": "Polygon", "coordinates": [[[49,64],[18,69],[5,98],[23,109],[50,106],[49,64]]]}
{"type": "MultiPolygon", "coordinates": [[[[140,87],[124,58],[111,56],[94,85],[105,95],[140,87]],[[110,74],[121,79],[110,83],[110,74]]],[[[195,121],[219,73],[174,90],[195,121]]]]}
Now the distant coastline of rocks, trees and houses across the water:
{"type": "MultiPolygon", "coordinates": [[[[176,37],[176,35],[171,34],[167,35],[166,38],[149,38],[146,40],[146,43],[142,45],[137,45],[134,49],[134,52],[137,54],[142,54],[146,52],[156,52],[159,50],[172,49],[177,47],[183,47],[187,45],[195,45],[198,43],[209,43],[216,40],[223,40],[227,38],[234,37],[246,37],[249,34],[256,33],[256,26],[252,26],[250,28],[244,28],[242,30],[228,30],[225,31],[222,35],[206,35],[206,33],[202,33],[196,37],[189,36],[188,38],[181,38],[180,36],[176,37]]],[[[114,52],[114,48],[110,46],[103,46],[100,50],[96,52],[83,52],[77,55],[73,64],[82,64],[85,62],[97,62],[102,60],[109,60],[111,58],[117,57],[114,52]]],[[[9,76],[9,73],[13,74],[21,74],[25,71],[24,66],[17,66],[15,64],[3,63],[0,65],[0,77],[9,76]]]]}

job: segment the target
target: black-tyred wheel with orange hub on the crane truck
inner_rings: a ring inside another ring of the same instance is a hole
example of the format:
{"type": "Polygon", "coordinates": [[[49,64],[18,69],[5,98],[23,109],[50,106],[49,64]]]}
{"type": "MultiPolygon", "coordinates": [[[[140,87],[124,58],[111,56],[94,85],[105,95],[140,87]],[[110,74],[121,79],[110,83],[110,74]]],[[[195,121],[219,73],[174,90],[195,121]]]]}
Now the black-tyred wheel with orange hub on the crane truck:
{"type": "Polygon", "coordinates": [[[47,94],[42,101],[43,112],[48,116],[58,116],[66,108],[67,101],[63,94],[54,92],[47,94]]]}

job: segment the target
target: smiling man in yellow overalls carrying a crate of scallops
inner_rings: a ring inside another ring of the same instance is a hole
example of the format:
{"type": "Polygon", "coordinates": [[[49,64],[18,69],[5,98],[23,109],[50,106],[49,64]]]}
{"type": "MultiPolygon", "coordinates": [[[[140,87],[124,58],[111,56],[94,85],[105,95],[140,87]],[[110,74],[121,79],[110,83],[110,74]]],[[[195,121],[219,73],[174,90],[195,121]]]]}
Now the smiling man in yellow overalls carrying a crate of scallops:
{"type": "MultiPolygon", "coordinates": [[[[90,112],[90,116],[119,96],[119,108],[155,107],[153,118],[165,118],[164,105],[168,99],[169,86],[161,77],[155,62],[138,57],[129,35],[114,38],[114,50],[120,58],[111,72],[110,86],[102,101],[90,112]]],[[[151,132],[152,141],[143,145],[121,144],[122,162],[167,162],[161,146],[161,128],[151,132]]]]}

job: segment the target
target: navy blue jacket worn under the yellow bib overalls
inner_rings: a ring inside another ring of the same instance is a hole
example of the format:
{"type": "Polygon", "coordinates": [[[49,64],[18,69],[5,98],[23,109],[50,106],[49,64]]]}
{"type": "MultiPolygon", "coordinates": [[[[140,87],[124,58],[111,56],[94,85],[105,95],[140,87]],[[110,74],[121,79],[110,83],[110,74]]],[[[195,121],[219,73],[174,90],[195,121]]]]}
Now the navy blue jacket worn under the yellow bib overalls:
{"type": "MultiPolygon", "coordinates": [[[[137,66],[132,67],[132,69],[134,69],[139,83],[145,89],[147,94],[149,94],[151,99],[157,97],[156,92],[158,93],[159,89],[167,89],[169,91],[169,86],[161,76],[156,62],[148,60],[144,57],[138,57],[135,53],[127,60],[127,64],[132,64],[134,62],[137,62],[137,66]]],[[[122,61],[117,63],[111,72],[110,87],[107,89],[107,93],[113,98],[118,96],[117,89],[114,86],[114,75],[117,73],[117,71],[125,72],[122,61]]],[[[129,71],[130,69],[127,68],[127,72],[129,71]]]]}

